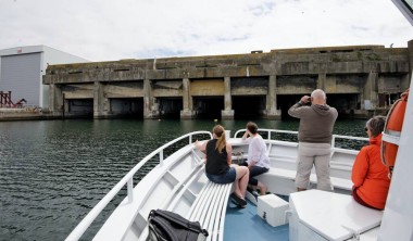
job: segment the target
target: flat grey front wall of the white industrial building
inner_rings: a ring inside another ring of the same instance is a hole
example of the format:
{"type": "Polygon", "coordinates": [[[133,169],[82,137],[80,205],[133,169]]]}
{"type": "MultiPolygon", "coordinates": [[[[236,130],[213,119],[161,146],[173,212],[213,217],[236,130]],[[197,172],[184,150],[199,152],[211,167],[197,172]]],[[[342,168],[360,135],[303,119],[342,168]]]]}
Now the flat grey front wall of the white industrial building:
{"type": "Polygon", "coordinates": [[[39,105],[41,53],[1,56],[0,90],[12,91],[15,103],[39,105]]]}

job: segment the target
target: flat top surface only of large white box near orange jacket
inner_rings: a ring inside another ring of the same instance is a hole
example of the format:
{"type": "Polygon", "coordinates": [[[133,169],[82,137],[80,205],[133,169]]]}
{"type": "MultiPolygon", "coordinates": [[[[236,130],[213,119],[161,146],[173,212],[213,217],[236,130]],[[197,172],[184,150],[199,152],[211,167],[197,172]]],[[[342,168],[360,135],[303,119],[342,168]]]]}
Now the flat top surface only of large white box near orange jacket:
{"type": "Polygon", "coordinates": [[[300,223],[328,240],[346,240],[380,225],[383,211],[356,203],[351,195],[321,190],[290,194],[300,223]]]}

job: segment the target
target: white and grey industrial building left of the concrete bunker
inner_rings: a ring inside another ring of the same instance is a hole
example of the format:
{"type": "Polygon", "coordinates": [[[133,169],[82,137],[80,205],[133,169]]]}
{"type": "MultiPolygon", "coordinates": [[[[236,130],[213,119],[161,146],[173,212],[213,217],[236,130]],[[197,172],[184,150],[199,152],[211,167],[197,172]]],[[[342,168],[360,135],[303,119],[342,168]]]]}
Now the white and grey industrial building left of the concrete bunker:
{"type": "Polygon", "coordinates": [[[16,102],[48,107],[49,89],[42,85],[42,75],[49,64],[85,63],[88,60],[47,46],[25,46],[0,50],[0,91],[11,91],[16,102]]]}

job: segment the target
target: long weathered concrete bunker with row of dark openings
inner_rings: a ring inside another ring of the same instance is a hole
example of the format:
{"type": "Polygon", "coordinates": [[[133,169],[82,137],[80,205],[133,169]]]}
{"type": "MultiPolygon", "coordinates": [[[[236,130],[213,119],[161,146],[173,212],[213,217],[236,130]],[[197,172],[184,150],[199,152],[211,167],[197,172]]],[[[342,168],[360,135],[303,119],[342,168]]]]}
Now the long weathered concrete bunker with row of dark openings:
{"type": "Polygon", "coordinates": [[[233,119],[237,113],[277,119],[316,88],[342,114],[386,112],[410,84],[413,42],[383,46],[280,49],[248,54],[121,60],[49,65],[54,115],[110,118],[171,113],[233,119]],[[254,110],[256,109],[256,110],[254,110]]]}

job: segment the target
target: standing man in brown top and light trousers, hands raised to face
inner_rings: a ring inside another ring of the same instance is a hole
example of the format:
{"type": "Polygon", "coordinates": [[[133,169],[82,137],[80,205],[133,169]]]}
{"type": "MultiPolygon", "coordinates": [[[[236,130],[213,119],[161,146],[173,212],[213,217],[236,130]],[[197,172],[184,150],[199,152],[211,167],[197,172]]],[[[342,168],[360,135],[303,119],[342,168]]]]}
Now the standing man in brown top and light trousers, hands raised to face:
{"type": "Polygon", "coordinates": [[[337,110],[326,104],[326,94],[316,89],[311,97],[301,100],[288,110],[288,114],[300,119],[298,129],[298,162],[296,187],[306,190],[311,168],[315,167],[317,189],[331,191],[329,161],[331,153],[333,128],[337,119],[337,110]],[[311,105],[306,105],[306,104],[311,105]]]}

